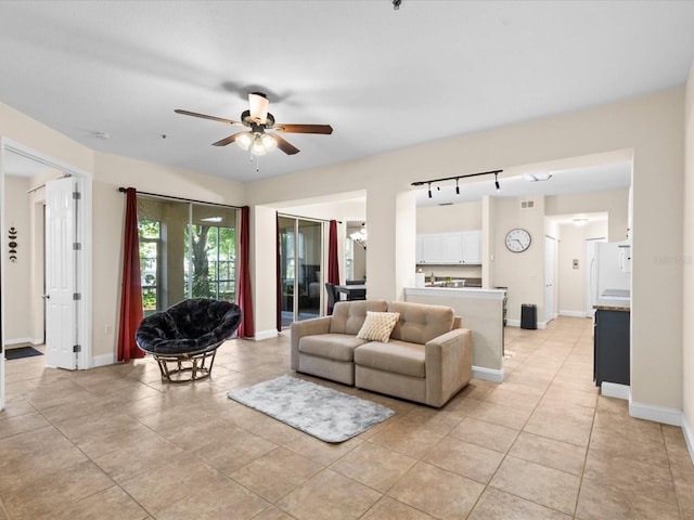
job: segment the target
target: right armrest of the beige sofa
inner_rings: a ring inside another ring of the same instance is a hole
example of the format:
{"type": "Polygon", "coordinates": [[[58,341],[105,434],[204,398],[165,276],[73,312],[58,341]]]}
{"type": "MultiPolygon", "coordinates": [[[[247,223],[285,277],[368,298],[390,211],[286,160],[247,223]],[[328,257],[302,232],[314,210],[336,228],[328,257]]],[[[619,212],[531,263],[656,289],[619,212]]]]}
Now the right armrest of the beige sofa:
{"type": "Polygon", "coordinates": [[[424,346],[426,370],[426,402],[442,406],[472,378],[472,333],[454,328],[424,346]]]}

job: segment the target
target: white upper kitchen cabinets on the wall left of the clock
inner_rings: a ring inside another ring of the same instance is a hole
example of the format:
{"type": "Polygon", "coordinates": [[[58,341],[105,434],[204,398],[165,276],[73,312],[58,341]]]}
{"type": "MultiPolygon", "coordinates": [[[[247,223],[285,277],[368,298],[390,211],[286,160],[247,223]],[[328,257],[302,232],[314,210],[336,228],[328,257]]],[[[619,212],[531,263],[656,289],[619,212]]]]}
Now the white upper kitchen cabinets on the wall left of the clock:
{"type": "Polygon", "coordinates": [[[481,264],[481,231],[416,235],[416,263],[481,264]]]}

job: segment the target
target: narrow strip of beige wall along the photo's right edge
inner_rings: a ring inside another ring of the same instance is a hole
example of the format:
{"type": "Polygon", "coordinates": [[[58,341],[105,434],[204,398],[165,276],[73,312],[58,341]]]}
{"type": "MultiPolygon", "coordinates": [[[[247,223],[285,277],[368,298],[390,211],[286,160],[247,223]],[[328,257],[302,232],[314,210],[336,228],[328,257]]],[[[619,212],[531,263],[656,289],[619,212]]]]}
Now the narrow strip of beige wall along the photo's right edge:
{"type": "Polygon", "coordinates": [[[684,234],[681,257],[684,270],[682,393],[690,453],[694,459],[694,65],[686,83],[685,116],[684,234]]]}

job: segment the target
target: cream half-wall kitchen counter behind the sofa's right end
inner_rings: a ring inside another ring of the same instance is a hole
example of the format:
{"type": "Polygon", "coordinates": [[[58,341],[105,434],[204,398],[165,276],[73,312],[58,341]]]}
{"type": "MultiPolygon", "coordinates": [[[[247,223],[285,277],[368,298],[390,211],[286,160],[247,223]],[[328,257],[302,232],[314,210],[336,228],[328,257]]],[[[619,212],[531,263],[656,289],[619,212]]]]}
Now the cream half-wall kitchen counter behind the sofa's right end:
{"type": "Polygon", "coordinates": [[[501,382],[505,294],[480,287],[406,287],[404,301],[452,308],[472,332],[473,377],[501,382]]]}

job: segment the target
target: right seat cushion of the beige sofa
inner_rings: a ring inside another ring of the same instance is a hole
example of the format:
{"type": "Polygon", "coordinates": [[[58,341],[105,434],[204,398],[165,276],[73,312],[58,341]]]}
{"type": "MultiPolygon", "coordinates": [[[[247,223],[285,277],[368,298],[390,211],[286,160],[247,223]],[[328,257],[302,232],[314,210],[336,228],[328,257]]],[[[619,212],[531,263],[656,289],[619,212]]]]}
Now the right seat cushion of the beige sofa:
{"type": "Polygon", "coordinates": [[[355,351],[355,363],[406,376],[425,377],[424,346],[408,341],[372,341],[355,351]]]}

